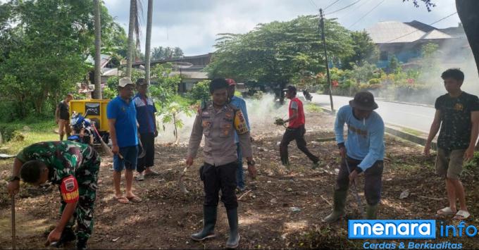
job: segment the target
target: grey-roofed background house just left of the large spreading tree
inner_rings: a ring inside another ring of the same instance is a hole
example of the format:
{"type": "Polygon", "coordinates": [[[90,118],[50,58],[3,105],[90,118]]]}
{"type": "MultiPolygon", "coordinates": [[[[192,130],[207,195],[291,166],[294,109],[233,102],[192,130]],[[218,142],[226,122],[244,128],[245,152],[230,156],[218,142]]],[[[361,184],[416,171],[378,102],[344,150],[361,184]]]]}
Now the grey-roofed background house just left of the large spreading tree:
{"type": "MultiPolygon", "coordinates": [[[[182,58],[154,60],[151,61],[150,65],[153,67],[153,65],[157,63],[173,63],[175,70],[172,71],[170,75],[181,76],[178,92],[183,93],[191,90],[197,82],[208,80],[208,75],[202,70],[210,63],[212,55],[213,53],[209,53],[199,56],[183,56],[182,58]]],[[[132,63],[133,67],[139,68],[140,65],[144,66],[144,61],[132,63]]]]}

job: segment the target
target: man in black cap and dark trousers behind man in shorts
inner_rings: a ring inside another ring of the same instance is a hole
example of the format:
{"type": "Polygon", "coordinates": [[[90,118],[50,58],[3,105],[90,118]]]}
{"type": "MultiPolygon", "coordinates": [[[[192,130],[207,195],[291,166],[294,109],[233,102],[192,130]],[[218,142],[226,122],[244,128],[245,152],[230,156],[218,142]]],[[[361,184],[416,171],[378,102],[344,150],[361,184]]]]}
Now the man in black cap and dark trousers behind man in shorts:
{"type": "Polygon", "coordinates": [[[151,170],[155,160],[155,137],[158,136],[158,130],[156,130],[155,104],[153,99],[147,96],[148,83],[144,78],[137,80],[137,91],[138,94],[133,98],[133,103],[137,109],[139,139],[141,139],[143,150],[146,151],[143,158],[138,158],[137,180],[144,180],[147,175],[158,175],[151,170]]]}

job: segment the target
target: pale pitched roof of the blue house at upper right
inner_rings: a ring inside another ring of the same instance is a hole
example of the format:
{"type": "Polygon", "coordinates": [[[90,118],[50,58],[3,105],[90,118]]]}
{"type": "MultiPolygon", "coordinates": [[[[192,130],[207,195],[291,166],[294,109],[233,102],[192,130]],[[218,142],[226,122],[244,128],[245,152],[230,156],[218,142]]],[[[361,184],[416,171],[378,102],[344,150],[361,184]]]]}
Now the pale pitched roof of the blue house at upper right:
{"type": "Polygon", "coordinates": [[[408,43],[421,39],[449,39],[452,38],[435,27],[418,21],[402,23],[387,21],[376,23],[366,29],[375,44],[408,43]]]}

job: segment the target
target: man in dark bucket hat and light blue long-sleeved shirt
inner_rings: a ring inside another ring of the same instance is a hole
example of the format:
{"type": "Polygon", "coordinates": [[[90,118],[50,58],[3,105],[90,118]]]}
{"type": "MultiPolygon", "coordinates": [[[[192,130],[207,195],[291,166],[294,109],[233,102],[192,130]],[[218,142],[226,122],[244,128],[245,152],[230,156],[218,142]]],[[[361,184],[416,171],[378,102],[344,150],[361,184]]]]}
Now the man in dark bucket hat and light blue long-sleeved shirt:
{"type": "Polygon", "coordinates": [[[349,105],[337,111],[335,134],[342,163],[334,189],[334,207],[324,221],[332,223],[344,216],[344,206],[349,185],[355,185],[359,174],[364,173],[366,219],[377,216],[382,186],[382,160],[384,157],[384,123],[374,110],[378,104],[370,92],[359,92],[349,105]],[[347,140],[344,141],[344,123],[347,140]],[[349,170],[348,170],[349,168],[349,170]]]}

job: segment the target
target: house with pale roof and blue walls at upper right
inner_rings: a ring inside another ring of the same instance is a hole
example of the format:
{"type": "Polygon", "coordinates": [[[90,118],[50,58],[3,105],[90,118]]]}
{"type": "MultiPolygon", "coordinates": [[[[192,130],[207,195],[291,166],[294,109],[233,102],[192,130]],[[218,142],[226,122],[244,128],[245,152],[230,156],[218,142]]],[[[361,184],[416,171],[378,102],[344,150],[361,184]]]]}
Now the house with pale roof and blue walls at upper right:
{"type": "Polygon", "coordinates": [[[467,54],[468,52],[468,43],[462,25],[437,29],[416,20],[409,23],[387,21],[376,23],[366,29],[366,32],[378,45],[379,68],[386,68],[393,56],[402,63],[410,63],[421,56],[421,47],[431,42],[439,45],[444,58],[453,54],[456,58],[458,53],[467,54]]]}

